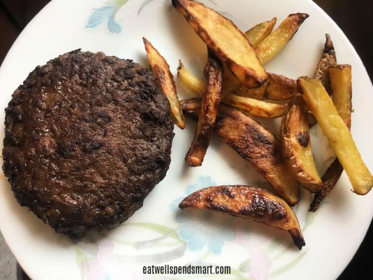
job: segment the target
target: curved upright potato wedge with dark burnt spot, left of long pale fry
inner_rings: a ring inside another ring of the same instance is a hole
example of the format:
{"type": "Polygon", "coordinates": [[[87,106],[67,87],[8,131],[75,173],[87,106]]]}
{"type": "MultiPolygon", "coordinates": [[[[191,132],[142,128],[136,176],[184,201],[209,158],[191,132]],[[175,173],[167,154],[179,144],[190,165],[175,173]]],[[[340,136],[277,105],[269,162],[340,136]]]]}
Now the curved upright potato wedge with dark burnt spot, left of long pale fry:
{"type": "Polygon", "coordinates": [[[307,104],[302,96],[295,96],[282,117],[280,137],[282,156],[285,158],[300,186],[316,192],[322,181],[312,157],[307,123],[307,104]]]}

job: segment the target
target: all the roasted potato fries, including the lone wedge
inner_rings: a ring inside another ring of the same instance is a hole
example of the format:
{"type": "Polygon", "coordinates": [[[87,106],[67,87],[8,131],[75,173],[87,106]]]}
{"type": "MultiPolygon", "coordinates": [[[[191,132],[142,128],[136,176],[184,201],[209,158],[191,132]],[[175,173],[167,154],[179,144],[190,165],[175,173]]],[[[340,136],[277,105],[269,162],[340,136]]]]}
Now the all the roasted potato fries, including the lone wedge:
{"type": "Polygon", "coordinates": [[[315,193],[310,206],[310,211],[315,211],[343,170],[355,193],[366,194],[373,186],[373,176],[350,133],[351,66],[337,64],[332,40],[326,34],[313,79],[293,80],[267,73],[264,65],[292,39],[308,14],[290,14],[275,30],[277,18],[273,18],[244,33],[231,20],[201,3],[172,2],[207,47],[203,71],[206,81],[193,76],[179,62],[178,78],[195,98],[179,101],[166,60],[145,38],[144,43],[151,69],[170,100],[175,124],[185,127],[184,114],[197,121],[186,155],[187,165],[202,164],[214,132],[250,162],[279,195],[258,187],[208,187],[187,196],[180,207],[223,211],[288,230],[301,249],[304,239],[288,206],[298,202],[299,187],[315,193]],[[253,117],[282,117],[280,139],[253,117]],[[309,135],[309,127],[316,122],[337,155],[321,178],[309,135]]]}

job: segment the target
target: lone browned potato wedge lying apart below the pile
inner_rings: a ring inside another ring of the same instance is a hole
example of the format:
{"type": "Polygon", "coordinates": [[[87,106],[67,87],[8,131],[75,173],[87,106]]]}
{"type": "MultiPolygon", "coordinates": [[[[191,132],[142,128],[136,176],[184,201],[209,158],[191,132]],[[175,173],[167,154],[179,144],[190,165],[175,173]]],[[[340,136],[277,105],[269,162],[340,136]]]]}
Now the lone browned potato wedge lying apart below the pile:
{"type": "Polygon", "coordinates": [[[268,226],[287,230],[300,250],[304,239],[293,210],[280,197],[251,186],[206,187],[193,192],[180,202],[185,209],[211,209],[268,226]]]}

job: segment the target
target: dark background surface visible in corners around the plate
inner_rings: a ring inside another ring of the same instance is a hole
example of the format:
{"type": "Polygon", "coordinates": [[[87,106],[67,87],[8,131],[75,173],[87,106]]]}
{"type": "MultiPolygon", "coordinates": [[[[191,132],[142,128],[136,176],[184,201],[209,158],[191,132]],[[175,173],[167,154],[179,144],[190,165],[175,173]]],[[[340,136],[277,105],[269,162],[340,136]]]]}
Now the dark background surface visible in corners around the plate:
{"type": "MultiPolygon", "coordinates": [[[[23,27],[48,2],[48,0],[0,0],[0,63],[23,27]]],[[[345,32],[362,58],[372,80],[373,48],[371,42],[373,30],[373,1],[315,0],[315,2],[321,6],[345,32]]],[[[343,234],[343,232],[341,232],[341,234],[343,234]]],[[[350,238],[354,238],[354,236],[350,238]]],[[[341,244],[340,250],[343,250],[343,244],[341,244]]],[[[370,256],[372,252],[373,224],[371,223],[367,236],[358,252],[338,280],[373,279],[373,277],[370,276],[372,271],[372,258],[370,256]]],[[[3,257],[3,255],[4,254],[0,253],[1,257],[3,257]]],[[[333,265],[333,260],[330,260],[330,266],[332,267],[333,265]]],[[[7,279],[11,280],[11,278],[7,279]]],[[[19,273],[19,271],[18,279],[22,279],[22,273],[19,273]]],[[[27,279],[24,274],[23,279],[27,279]]],[[[299,279],[301,279],[301,277],[299,279]]]]}

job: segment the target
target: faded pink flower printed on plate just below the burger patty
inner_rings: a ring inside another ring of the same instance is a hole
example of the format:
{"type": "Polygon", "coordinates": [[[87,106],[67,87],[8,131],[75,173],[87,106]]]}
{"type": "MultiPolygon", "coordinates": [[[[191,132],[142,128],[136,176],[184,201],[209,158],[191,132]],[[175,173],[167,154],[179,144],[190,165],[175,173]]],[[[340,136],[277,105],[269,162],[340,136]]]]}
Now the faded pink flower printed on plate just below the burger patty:
{"type": "Polygon", "coordinates": [[[114,249],[115,244],[112,242],[99,245],[96,259],[82,264],[85,280],[137,279],[135,270],[125,264],[117,263],[114,249]]]}

